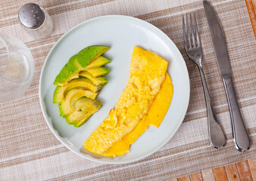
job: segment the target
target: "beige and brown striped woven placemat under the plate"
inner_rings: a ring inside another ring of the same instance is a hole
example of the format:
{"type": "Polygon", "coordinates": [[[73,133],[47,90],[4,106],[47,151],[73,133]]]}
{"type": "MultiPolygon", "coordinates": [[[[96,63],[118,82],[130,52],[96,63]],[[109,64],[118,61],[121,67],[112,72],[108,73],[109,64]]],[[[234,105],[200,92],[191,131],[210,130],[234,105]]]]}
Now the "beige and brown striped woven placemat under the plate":
{"type": "Polygon", "coordinates": [[[251,139],[251,149],[243,153],[233,146],[229,109],[201,0],[35,1],[55,25],[51,37],[42,41],[30,38],[18,23],[17,11],[26,2],[30,1],[0,2],[0,31],[27,44],[36,66],[29,90],[17,100],[0,104],[0,180],[167,180],[256,157],[256,43],[245,1],[210,1],[226,35],[236,94],[251,139]],[[198,18],[214,109],[227,138],[219,151],[209,145],[201,78],[183,48],[182,14],[192,11],[198,18]],[[78,23],[107,14],[138,17],[164,31],[183,54],[191,80],[189,109],[175,136],[155,154],[130,164],[98,164],[70,152],[48,128],[39,105],[39,75],[52,46],[78,23]]]}

